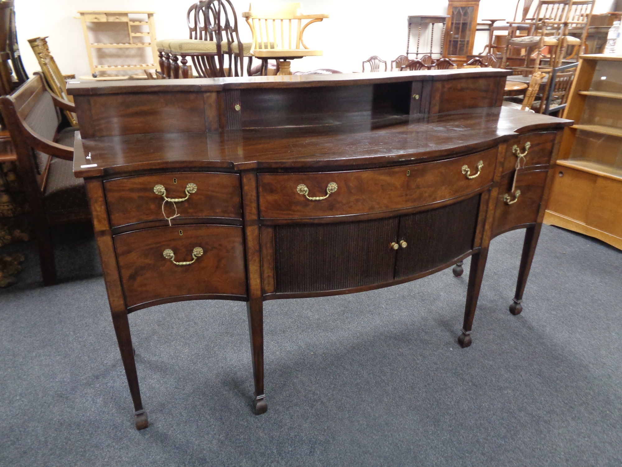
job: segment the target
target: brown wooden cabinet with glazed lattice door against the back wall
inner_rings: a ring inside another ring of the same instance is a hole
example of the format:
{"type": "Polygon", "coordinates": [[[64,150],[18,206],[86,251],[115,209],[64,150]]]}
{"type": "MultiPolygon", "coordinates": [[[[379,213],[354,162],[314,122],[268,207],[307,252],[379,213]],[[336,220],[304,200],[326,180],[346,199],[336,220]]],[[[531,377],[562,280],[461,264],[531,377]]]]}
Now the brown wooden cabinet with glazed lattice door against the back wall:
{"type": "Polygon", "coordinates": [[[467,55],[473,55],[479,8],[480,0],[449,0],[443,57],[458,66],[466,63],[467,55]]]}

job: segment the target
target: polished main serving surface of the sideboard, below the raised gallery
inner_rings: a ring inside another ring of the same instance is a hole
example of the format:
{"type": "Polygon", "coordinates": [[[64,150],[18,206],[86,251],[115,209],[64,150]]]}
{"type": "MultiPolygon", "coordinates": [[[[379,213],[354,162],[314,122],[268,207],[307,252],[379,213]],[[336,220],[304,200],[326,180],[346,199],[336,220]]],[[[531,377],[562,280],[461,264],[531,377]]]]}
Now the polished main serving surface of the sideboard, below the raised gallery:
{"type": "Polygon", "coordinates": [[[90,177],[167,168],[313,170],[401,165],[455,157],[491,147],[516,133],[564,128],[572,121],[491,107],[419,115],[381,128],[373,125],[365,121],[83,139],[76,141],[74,172],[90,177]],[[90,159],[85,158],[88,154],[90,159]]]}

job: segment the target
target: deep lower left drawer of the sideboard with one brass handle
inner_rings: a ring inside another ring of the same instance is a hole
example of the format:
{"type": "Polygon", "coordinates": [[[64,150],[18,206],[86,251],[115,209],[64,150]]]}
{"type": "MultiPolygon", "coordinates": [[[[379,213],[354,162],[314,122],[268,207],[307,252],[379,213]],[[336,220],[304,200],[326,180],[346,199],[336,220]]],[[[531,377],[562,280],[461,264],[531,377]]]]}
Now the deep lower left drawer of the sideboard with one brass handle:
{"type": "Polygon", "coordinates": [[[172,297],[246,296],[241,227],[157,227],[115,235],[113,240],[129,309],[172,297]],[[172,250],[176,262],[190,262],[196,247],[203,254],[192,264],[176,265],[164,257],[165,250],[172,250]]]}

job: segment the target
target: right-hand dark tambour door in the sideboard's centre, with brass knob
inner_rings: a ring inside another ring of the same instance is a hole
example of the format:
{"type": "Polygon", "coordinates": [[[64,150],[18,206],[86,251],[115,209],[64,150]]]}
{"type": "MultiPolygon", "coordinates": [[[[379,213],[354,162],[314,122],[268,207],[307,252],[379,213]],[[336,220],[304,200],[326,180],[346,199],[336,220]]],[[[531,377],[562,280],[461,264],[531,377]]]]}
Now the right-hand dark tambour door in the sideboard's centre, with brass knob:
{"type": "Polygon", "coordinates": [[[395,278],[433,270],[472,250],[479,205],[478,195],[437,209],[402,215],[395,278]],[[406,247],[402,242],[406,242],[406,247]]]}

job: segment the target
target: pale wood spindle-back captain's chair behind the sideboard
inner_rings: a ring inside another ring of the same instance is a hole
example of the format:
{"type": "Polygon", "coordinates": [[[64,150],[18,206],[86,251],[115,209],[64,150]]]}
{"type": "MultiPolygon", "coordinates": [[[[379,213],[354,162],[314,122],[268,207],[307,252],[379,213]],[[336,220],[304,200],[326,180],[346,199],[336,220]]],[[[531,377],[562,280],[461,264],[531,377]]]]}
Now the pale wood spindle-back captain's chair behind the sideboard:
{"type": "Polygon", "coordinates": [[[328,18],[327,14],[303,14],[300,3],[269,4],[253,2],[243,12],[253,33],[253,57],[261,60],[261,74],[267,74],[268,60],[276,60],[277,74],[290,75],[290,60],[323,55],[322,50],[307,47],[305,29],[314,22],[328,18]],[[309,20],[303,24],[305,20],[309,20]]]}

